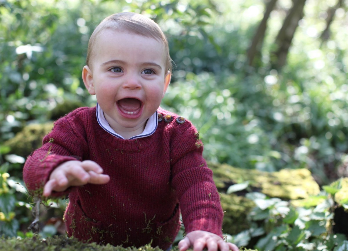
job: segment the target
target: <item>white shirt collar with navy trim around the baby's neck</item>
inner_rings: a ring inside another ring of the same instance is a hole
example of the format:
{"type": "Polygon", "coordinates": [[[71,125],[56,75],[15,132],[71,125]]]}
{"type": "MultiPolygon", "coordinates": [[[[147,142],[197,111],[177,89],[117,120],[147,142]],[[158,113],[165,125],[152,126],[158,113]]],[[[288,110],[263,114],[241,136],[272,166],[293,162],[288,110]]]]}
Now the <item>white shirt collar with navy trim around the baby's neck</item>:
{"type": "MultiPolygon", "coordinates": [[[[109,132],[111,135],[113,135],[115,137],[118,137],[120,139],[125,139],[124,137],[122,137],[121,135],[116,133],[110,127],[108,121],[106,121],[106,119],[105,119],[104,112],[103,112],[102,108],[98,105],[98,103],[97,103],[96,114],[97,114],[97,121],[98,121],[99,125],[101,126],[101,128],[103,128],[105,131],[109,132]]],[[[151,117],[146,122],[144,131],[142,133],[140,133],[139,135],[133,136],[129,139],[144,138],[144,137],[148,137],[148,136],[152,135],[153,133],[155,133],[155,131],[157,129],[157,123],[158,123],[158,116],[157,116],[157,111],[156,111],[154,114],[151,115],[151,117]]]]}

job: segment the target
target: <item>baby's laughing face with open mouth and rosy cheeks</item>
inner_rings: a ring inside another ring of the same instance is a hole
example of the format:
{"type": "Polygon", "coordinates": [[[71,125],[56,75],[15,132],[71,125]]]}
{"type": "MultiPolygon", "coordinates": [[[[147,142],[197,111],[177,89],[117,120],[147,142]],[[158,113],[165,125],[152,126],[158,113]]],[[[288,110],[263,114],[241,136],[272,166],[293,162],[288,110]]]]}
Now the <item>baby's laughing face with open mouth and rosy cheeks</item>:
{"type": "Polygon", "coordinates": [[[140,134],[170,81],[163,44],[129,32],[104,30],[94,49],[93,70],[87,67],[89,93],[96,95],[114,131],[140,134]]]}

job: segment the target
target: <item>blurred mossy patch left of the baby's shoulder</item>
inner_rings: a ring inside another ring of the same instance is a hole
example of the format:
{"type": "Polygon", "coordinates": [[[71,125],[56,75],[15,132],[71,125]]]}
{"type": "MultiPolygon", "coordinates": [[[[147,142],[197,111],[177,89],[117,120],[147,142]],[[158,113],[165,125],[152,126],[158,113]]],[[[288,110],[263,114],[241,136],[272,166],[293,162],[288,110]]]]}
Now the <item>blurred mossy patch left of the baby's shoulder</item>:
{"type": "Polygon", "coordinates": [[[10,153],[26,157],[35,149],[41,147],[42,138],[52,130],[53,122],[45,124],[29,124],[7,140],[4,146],[10,147],[10,153]]]}

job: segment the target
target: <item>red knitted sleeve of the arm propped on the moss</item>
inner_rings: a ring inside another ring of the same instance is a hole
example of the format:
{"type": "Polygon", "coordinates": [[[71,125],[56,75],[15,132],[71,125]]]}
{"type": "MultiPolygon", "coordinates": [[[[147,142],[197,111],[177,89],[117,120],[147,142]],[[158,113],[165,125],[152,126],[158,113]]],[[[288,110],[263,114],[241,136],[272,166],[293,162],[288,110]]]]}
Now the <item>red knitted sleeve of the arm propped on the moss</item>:
{"type": "Polygon", "coordinates": [[[191,126],[172,147],[172,185],[179,198],[187,233],[204,230],[222,237],[223,211],[213,172],[202,157],[203,144],[191,126]]]}

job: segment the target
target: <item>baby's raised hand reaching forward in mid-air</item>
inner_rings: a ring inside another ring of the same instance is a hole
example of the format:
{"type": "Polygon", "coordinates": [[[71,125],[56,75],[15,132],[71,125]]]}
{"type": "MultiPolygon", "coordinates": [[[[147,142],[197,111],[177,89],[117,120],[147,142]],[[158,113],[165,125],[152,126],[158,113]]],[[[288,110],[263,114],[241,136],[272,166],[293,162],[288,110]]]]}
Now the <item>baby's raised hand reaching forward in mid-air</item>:
{"type": "Polygon", "coordinates": [[[105,184],[110,180],[109,175],[102,174],[103,169],[91,160],[66,161],[51,173],[44,186],[43,195],[48,197],[52,191],[62,192],[70,186],[82,186],[87,183],[105,184]]]}

